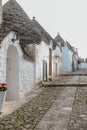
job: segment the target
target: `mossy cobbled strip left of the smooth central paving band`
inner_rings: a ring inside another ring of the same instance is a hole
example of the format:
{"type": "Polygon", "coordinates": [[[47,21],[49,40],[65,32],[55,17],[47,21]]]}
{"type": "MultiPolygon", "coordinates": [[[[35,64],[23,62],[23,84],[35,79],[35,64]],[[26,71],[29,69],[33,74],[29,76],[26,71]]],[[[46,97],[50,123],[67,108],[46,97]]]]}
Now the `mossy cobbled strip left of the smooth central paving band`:
{"type": "Polygon", "coordinates": [[[63,87],[44,88],[38,96],[1,119],[0,130],[34,130],[63,89],[63,87]]]}

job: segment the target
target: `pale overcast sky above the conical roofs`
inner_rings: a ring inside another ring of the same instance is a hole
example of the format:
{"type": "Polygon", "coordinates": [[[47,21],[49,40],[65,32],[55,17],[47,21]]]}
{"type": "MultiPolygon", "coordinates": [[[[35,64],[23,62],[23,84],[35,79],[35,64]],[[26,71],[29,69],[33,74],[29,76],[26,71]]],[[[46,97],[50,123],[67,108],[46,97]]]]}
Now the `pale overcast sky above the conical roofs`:
{"type": "MultiPolygon", "coordinates": [[[[2,0],[3,4],[8,0],[2,0]]],[[[87,0],[16,0],[55,38],[58,32],[87,57],[87,0]]]]}

